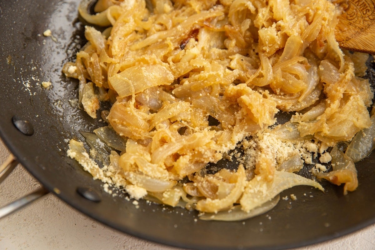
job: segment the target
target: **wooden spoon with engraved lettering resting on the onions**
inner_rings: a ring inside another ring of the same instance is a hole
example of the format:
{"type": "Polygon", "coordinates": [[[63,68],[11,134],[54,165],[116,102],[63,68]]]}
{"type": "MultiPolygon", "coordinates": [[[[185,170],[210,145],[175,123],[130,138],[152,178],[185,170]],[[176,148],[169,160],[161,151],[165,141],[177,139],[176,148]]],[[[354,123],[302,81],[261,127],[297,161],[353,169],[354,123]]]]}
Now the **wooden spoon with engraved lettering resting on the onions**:
{"type": "Polygon", "coordinates": [[[375,54],[375,0],[347,0],[339,3],[335,37],[343,49],[375,54]]]}

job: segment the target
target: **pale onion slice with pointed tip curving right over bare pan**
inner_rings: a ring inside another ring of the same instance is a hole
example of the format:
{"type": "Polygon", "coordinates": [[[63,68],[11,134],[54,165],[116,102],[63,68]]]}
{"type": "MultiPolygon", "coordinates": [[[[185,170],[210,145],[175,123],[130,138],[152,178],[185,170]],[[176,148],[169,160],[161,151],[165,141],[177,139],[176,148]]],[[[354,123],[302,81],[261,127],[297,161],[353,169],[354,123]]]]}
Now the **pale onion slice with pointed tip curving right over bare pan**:
{"type": "Polygon", "coordinates": [[[245,187],[240,204],[242,210],[249,212],[270,201],[276,195],[294,186],[308,185],[324,191],[316,181],[285,171],[276,171],[272,182],[267,182],[261,176],[254,177],[245,187]]]}

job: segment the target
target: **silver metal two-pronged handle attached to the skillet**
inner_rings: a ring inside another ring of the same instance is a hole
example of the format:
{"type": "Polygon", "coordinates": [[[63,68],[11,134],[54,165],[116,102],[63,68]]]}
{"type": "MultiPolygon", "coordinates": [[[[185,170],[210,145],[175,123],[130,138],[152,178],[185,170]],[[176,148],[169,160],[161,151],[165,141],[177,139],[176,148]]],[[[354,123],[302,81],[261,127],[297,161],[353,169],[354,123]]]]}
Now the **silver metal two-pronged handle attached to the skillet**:
{"type": "MultiPolygon", "coordinates": [[[[5,180],[5,178],[13,171],[13,169],[17,165],[17,159],[13,156],[13,154],[9,154],[5,162],[0,165],[0,183],[5,180]]],[[[25,207],[26,205],[31,204],[33,201],[36,201],[37,199],[48,193],[49,191],[47,189],[45,189],[44,187],[39,187],[28,195],[25,195],[16,201],[10,202],[9,204],[0,208],[0,219],[14,213],[15,211],[25,207]]]]}

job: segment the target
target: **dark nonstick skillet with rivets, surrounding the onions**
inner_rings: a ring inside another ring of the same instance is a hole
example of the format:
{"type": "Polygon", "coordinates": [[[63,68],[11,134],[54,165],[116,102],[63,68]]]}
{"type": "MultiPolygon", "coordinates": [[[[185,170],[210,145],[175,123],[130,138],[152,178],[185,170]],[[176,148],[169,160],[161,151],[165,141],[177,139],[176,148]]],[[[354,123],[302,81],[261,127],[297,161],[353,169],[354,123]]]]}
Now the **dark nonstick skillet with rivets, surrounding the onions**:
{"type": "MultiPolygon", "coordinates": [[[[85,43],[77,6],[78,0],[0,0],[0,136],[46,189],[124,233],[191,249],[287,249],[375,223],[375,189],[371,186],[375,154],[357,163],[359,187],[355,192],[344,196],[342,187],[326,182],[325,193],[294,187],[281,196],[293,193],[296,201],[281,200],[273,210],[245,223],[195,221],[196,212],[143,200],[136,208],[123,195],[104,192],[101,181],[93,180],[66,156],[66,139],[82,139],[78,130],[105,125],[72,104],[78,97],[77,81],[61,73],[63,64],[74,60],[85,43]],[[47,29],[52,37],[42,35],[47,29]],[[42,81],[52,82],[53,87],[41,87],[42,81]],[[15,127],[14,123],[23,120],[31,125],[31,135],[15,127]],[[79,194],[86,188],[92,190],[94,199],[79,194]]],[[[374,75],[373,69],[369,75],[374,75]]]]}

